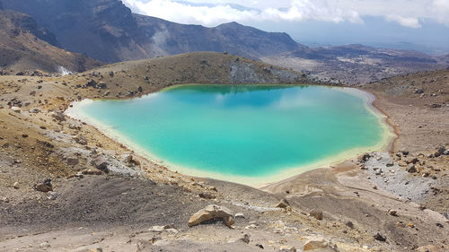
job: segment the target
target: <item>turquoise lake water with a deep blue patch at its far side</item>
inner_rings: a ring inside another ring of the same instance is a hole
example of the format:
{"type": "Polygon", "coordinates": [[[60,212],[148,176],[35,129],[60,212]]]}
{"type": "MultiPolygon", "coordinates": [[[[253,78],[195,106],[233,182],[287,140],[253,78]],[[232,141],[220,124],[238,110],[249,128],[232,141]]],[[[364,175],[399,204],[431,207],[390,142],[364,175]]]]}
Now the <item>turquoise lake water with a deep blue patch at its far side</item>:
{"type": "Polygon", "coordinates": [[[366,102],[323,86],[188,85],[77,109],[174,166],[263,177],[382,141],[366,102]]]}

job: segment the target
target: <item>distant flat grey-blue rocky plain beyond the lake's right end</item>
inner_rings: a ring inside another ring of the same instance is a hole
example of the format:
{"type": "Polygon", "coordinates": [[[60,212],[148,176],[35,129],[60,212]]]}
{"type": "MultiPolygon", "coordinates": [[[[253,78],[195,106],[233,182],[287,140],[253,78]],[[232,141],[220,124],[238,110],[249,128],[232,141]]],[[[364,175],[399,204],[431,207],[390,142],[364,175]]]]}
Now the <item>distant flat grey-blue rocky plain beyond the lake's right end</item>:
{"type": "Polygon", "coordinates": [[[447,56],[428,56],[417,51],[348,45],[328,48],[300,48],[277,56],[263,57],[270,64],[282,65],[312,74],[316,79],[357,85],[401,74],[449,66],[447,56]]]}

